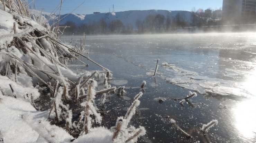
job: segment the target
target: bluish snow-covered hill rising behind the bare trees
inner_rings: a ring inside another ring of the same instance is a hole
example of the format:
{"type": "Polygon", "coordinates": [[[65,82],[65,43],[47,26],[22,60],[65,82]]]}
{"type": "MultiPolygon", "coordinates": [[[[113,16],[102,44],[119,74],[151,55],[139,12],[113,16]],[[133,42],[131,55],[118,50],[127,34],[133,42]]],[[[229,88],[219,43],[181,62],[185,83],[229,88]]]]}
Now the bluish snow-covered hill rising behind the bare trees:
{"type": "MultiPolygon", "coordinates": [[[[98,13],[98,14],[63,14],[61,15],[60,24],[65,24],[67,21],[73,21],[76,25],[82,23],[91,24],[93,22],[98,22],[100,19],[104,18],[106,21],[111,20],[121,20],[124,25],[131,24],[136,27],[136,21],[144,21],[145,18],[149,15],[162,14],[167,17],[170,15],[172,19],[175,18],[176,14],[180,13],[180,17],[184,18],[184,21],[191,23],[191,12],[190,11],[168,11],[168,10],[130,10],[123,12],[108,12],[108,13],[98,13]]],[[[42,13],[46,18],[50,16],[49,23],[52,24],[54,17],[49,15],[49,13],[42,13]]],[[[55,17],[57,19],[58,15],[55,17]]],[[[56,20],[55,20],[56,21],[56,20]]]]}

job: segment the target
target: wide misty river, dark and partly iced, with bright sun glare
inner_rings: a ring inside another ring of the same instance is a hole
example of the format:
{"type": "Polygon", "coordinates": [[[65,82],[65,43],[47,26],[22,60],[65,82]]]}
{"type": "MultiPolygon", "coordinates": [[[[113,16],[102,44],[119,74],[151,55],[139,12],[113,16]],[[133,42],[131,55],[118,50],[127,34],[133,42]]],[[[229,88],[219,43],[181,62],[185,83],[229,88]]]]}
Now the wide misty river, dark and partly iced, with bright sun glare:
{"type": "MultiPolygon", "coordinates": [[[[80,41],[79,36],[74,39],[80,41]]],[[[123,97],[109,96],[100,107],[106,111],[107,128],[125,115],[145,80],[130,122],[147,130],[139,142],[256,142],[256,33],[86,36],[85,48],[86,56],[113,72],[112,86],[126,87],[123,97]],[[182,106],[180,98],[189,91],[198,96],[182,106]],[[177,130],[170,118],[192,138],[177,130]],[[203,135],[202,125],[212,120],[218,125],[203,135]]],[[[76,73],[102,70],[81,59],[89,67],[72,62],[69,67],[76,73]]]]}

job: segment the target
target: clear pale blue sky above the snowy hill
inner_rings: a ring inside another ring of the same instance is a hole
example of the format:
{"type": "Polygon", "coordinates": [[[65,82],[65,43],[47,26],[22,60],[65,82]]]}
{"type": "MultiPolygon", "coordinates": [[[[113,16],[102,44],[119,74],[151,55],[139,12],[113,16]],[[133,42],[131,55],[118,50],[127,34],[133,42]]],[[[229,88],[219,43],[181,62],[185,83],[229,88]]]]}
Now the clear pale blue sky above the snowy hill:
{"type": "MultiPolygon", "coordinates": [[[[30,2],[33,0],[29,0],[30,2]]],[[[114,4],[115,12],[127,10],[188,10],[193,7],[201,9],[219,9],[222,7],[222,0],[63,0],[61,13],[70,13],[77,6],[83,3],[73,13],[91,14],[93,12],[112,12],[114,4]]],[[[45,12],[52,12],[61,0],[34,0],[37,10],[44,8],[45,12]]],[[[33,2],[31,3],[33,7],[33,2]]],[[[59,10],[57,11],[57,13],[59,10]]]]}

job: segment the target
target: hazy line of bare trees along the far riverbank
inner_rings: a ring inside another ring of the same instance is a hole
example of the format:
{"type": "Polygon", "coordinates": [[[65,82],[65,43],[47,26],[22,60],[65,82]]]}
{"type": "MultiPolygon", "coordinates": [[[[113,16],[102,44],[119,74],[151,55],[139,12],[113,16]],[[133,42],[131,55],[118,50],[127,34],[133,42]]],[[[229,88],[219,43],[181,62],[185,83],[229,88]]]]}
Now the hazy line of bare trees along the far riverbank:
{"type": "MultiPolygon", "coordinates": [[[[220,10],[221,12],[221,10],[220,10]]],[[[186,17],[188,13],[181,11],[176,15],[149,14],[147,17],[137,19],[135,27],[131,23],[122,23],[121,20],[106,20],[101,18],[99,21],[94,21],[90,24],[76,25],[72,21],[67,21],[61,26],[70,26],[65,30],[65,34],[135,34],[135,33],[164,33],[172,32],[185,27],[202,27],[220,25],[220,17],[216,12],[210,9],[205,11],[191,11],[191,19],[186,17]]],[[[221,14],[220,14],[221,15],[221,14]]],[[[188,16],[188,15],[187,15],[188,16]]]]}

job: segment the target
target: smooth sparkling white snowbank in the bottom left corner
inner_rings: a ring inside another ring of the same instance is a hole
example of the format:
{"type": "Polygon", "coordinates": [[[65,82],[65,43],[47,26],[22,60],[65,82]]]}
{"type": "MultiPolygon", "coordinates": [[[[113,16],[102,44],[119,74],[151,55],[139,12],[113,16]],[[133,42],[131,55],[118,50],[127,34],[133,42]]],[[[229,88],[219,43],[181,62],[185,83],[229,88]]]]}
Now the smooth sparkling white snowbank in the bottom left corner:
{"type": "Polygon", "coordinates": [[[0,97],[0,126],[4,142],[70,142],[72,139],[66,131],[49,123],[48,111],[36,111],[23,96],[17,99],[0,97]]]}

